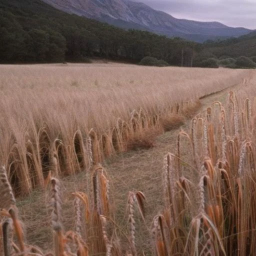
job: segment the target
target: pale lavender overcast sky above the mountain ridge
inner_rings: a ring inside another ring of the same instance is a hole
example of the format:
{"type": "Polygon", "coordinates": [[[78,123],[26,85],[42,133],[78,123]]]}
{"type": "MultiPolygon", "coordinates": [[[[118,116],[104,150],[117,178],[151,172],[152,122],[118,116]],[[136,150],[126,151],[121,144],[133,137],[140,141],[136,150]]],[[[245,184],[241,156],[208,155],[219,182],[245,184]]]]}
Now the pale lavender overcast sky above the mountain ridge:
{"type": "Polygon", "coordinates": [[[176,18],[256,29],[256,0],[133,0],[176,18]]]}

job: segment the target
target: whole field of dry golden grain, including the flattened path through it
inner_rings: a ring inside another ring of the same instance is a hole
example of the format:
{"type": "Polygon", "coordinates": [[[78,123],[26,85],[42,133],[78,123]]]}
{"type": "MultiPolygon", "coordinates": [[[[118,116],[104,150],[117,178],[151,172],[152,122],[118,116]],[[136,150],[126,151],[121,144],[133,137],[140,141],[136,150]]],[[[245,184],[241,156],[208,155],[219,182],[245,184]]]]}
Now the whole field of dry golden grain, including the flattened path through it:
{"type": "Polygon", "coordinates": [[[253,254],[254,70],[0,74],[4,256],[253,254]]]}

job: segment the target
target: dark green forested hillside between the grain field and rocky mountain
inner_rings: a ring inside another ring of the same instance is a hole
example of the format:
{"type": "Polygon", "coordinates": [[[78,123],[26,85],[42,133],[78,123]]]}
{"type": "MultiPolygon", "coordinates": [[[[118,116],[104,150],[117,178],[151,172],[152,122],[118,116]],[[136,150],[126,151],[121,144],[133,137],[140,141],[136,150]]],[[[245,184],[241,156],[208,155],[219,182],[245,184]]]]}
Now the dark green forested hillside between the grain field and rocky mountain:
{"type": "Polygon", "coordinates": [[[117,28],[40,0],[0,0],[1,63],[86,62],[94,57],[138,63],[146,56],[178,66],[217,67],[223,58],[235,63],[239,56],[254,61],[256,33],[200,44],[117,28]]]}

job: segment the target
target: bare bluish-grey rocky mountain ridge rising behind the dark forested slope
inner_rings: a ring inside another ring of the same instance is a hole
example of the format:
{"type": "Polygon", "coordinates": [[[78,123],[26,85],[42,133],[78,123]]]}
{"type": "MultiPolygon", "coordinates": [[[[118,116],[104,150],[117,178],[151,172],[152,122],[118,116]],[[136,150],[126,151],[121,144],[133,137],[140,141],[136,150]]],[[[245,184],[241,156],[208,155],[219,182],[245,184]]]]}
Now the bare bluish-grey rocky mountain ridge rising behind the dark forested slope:
{"type": "Polygon", "coordinates": [[[237,37],[251,30],[229,27],[219,22],[175,18],[141,2],[130,0],[43,0],[68,13],[97,19],[122,28],[148,30],[202,42],[207,39],[237,37]]]}

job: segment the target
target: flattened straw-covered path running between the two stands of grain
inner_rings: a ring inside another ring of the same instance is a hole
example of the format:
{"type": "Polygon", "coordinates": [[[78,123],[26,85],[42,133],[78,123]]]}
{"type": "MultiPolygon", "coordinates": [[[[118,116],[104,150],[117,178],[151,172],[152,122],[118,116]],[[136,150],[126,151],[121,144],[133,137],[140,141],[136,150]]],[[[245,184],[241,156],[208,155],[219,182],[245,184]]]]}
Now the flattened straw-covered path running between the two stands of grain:
{"type": "MultiPolygon", "coordinates": [[[[198,112],[205,109],[213,101],[224,102],[230,90],[236,90],[241,86],[246,86],[252,76],[255,75],[255,71],[251,70],[248,72],[248,77],[244,78],[241,83],[234,84],[220,92],[201,98],[201,107],[198,112]]],[[[163,205],[163,157],[167,152],[175,152],[176,136],[180,129],[188,130],[190,121],[189,119],[181,127],[158,136],[153,148],[119,153],[105,160],[103,166],[106,168],[110,180],[110,197],[114,199],[115,220],[120,226],[124,226],[127,221],[127,217],[124,215],[128,191],[139,190],[146,197],[146,224],[150,227],[152,217],[159,213],[163,205]]],[[[85,191],[85,173],[65,177],[61,182],[63,184],[63,224],[67,230],[72,228],[73,225],[73,222],[70,221],[70,216],[73,215],[73,196],[71,192],[74,190],[85,191]]],[[[42,223],[49,222],[49,214],[45,209],[44,192],[39,190],[32,192],[31,196],[18,202],[18,207],[26,226],[28,242],[35,243],[46,249],[49,246],[51,234],[50,229],[42,225],[42,223]]],[[[141,240],[138,237],[138,240],[141,241],[141,247],[144,246],[143,243],[148,242],[148,240],[144,239],[146,231],[145,229],[139,234],[141,240]]]]}

